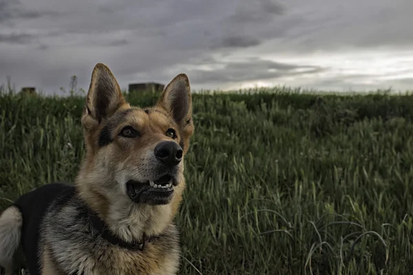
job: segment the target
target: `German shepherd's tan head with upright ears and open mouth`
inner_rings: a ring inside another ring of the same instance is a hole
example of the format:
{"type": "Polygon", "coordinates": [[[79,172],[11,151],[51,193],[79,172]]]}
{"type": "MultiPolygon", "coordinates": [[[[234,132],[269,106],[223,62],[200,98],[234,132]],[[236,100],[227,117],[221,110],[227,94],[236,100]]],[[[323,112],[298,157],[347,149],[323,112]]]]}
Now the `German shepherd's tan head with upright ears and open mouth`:
{"type": "MultiPolygon", "coordinates": [[[[87,156],[81,185],[103,200],[180,201],[184,155],[193,134],[189,80],[179,74],[154,107],[125,102],[106,65],[94,67],[82,116],[87,156]]],[[[82,188],[82,187],[81,187],[82,188]]]]}

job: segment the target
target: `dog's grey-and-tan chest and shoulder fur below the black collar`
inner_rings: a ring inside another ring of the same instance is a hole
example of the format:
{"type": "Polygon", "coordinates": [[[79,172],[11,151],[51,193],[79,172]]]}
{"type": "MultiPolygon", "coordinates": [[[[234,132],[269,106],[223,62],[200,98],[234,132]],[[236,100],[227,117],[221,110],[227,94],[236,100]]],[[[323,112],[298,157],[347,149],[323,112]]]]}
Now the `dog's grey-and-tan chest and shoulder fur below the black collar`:
{"type": "Polygon", "coordinates": [[[103,239],[78,198],[54,201],[41,225],[41,265],[59,274],[176,274],[180,261],[178,230],[171,224],[140,250],[103,239]],[[49,265],[50,267],[47,267],[49,265]]]}

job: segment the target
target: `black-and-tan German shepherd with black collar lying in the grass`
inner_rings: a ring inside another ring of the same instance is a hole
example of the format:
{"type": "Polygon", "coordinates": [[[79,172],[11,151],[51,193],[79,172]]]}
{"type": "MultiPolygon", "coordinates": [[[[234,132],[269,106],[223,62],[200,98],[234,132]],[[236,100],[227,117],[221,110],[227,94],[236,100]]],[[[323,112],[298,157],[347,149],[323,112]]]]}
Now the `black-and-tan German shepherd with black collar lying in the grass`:
{"type": "Polygon", "coordinates": [[[21,252],[30,275],[177,274],[173,220],[194,131],[187,75],[142,109],[125,101],[109,67],[98,63],[81,124],[86,152],[74,184],[45,184],[1,213],[3,271],[12,274],[21,252]]]}

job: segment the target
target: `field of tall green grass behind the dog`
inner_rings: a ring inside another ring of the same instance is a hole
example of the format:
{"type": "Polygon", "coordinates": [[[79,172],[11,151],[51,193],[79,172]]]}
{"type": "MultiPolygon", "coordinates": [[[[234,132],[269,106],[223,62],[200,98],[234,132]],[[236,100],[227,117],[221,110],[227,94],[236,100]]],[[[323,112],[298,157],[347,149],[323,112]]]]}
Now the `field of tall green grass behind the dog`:
{"type": "MultiPolygon", "coordinates": [[[[74,179],[83,104],[0,96],[0,210],[74,179]]],[[[195,94],[193,111],[182,274],[413,274],[413,96],[195,94]]]]}

